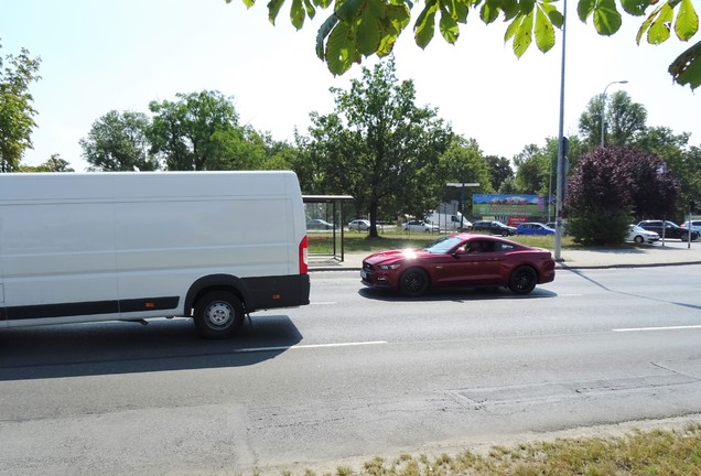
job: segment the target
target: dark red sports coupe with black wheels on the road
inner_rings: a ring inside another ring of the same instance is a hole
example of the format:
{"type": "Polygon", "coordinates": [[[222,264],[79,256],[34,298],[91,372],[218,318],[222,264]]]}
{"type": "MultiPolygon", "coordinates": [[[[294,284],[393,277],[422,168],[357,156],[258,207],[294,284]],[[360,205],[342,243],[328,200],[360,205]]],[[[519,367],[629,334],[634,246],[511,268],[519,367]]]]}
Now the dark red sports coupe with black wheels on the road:
{"type": "Polygon", "coordinates": [[[363,260],[363,284],[418,296],[429,289],[507,286],[528,294],[554,280],[550,251],[483,235],[451,235],[423,249],[381,251],[363,260]]]}

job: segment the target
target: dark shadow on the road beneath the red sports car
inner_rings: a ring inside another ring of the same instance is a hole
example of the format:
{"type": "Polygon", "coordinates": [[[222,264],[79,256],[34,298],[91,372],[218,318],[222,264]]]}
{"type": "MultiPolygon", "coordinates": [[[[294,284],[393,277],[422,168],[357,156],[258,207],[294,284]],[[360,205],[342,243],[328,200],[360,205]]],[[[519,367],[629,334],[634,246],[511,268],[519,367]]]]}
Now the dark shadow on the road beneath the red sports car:
{"type": "Polygon", "coordinates": [[[363,288],[358,291],[363,298],[375,301],[410,301],[410,302],[431,302],[431,301],[453,301],[453,302],[470,302],[470,301],[484,301],[484,300],[522,300],[522,299],[539,299],[539,298],[554,298],[557,294],[540,288],[536,288],[530,294],[519,295],[514,294],[511,291],[499,286],[484,286],[484,288],[455,288],[455,289],[440,289],[432,290],[427,294],[419,298],[409,298],[401,294],[399,291],[392,290],[378,290],[363,288]]]}

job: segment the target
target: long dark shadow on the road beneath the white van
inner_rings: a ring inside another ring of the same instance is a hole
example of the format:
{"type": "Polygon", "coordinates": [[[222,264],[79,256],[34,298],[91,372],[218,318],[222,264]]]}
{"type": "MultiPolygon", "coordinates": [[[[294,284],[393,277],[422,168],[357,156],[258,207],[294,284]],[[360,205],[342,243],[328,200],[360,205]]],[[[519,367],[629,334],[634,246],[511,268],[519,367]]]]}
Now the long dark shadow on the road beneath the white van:
{"type": "Polygon", "coordinates": [[[254,317],[225,340],[185,318],[1,329],[0,381],[251,366],[301,339],[287,315],[254,317]]]}

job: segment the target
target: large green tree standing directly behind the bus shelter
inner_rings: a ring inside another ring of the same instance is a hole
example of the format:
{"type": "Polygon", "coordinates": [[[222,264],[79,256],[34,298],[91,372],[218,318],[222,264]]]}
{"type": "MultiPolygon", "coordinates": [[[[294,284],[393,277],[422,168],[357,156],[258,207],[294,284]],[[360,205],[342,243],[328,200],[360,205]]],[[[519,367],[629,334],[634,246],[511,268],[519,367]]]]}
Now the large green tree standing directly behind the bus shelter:
{"type": "Polygon", "coordinates": [[[416,214],[434,199],[439,156],[452,132],[434,109],[414,105],[413,83],[398,84],[391,58],[363,68],[349,90],[331,91],[334,112],[310,115],[304,147],[316,171],[308,183],[317,193],[353,195],[356,210],[369,214],[375,237],[380,212],[416,214]]]}

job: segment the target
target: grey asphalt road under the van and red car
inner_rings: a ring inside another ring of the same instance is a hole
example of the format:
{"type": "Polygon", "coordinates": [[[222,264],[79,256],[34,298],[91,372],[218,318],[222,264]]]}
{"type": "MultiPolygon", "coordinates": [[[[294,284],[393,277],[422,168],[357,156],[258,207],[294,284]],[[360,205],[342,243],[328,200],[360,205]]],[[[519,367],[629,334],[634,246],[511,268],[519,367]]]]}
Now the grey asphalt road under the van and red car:
{"type": "MultiPolygon", "coordinates": [[[[421,300],[357,272],[206,342],[185,320],[0,332],[0,475],[219,474],[701,413],[701,266],[421,300]]],[[[279,472],[278,472],[279,474],[279,472]]]]}

